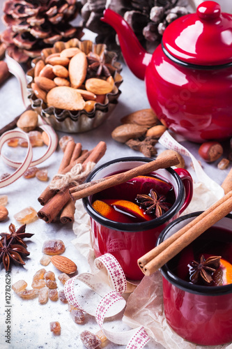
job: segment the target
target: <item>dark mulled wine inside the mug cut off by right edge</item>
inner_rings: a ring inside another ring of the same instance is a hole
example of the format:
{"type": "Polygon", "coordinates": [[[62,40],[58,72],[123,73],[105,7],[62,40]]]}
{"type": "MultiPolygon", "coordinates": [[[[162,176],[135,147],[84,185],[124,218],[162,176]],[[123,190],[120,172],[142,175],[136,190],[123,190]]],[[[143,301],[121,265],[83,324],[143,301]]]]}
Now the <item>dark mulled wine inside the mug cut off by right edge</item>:
{"type": "Polygon", "coordinates": [[[211,227],[167,265],[173,274],[195,285],[212,287],[231,284],[231,232],[211,227]]]}

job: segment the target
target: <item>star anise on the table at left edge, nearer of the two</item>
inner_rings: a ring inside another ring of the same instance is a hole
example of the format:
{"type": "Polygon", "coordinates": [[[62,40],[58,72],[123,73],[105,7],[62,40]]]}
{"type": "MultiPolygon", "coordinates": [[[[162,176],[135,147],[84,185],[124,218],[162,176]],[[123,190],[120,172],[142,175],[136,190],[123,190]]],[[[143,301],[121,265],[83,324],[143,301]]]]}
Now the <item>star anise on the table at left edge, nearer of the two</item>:
{"type": "Polygon", "coordinates": [[[29,254],[29,251],[24,246],[7,242],[6,235],[3,241],[0,241],[0,263],[3,262],[6,272],[10,269],[10,261],[24,265],[25,262],[22,260],[22,257],[26,257],[29,254]]]}

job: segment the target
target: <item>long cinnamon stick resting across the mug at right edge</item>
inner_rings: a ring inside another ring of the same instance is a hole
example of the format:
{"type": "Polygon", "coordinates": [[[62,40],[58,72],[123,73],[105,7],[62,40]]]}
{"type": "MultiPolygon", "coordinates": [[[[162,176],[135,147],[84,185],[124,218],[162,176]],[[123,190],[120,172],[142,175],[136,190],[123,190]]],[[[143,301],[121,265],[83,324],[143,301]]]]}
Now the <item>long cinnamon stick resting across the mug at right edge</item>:
{"type": "Polygon", "coordinates": [[[156,272],[171,258],[188,246],[212,225],[220,221],[232,210],[232,191],[217,201],[208,210],[204,211],[184,228],[173,234],[159,246],[153,248],[150,253],[146,253],[139,258],[138,265],[142,272],[149,276],[156,272]],[[162,245],[162,247],[160,247],[162,245]]]}

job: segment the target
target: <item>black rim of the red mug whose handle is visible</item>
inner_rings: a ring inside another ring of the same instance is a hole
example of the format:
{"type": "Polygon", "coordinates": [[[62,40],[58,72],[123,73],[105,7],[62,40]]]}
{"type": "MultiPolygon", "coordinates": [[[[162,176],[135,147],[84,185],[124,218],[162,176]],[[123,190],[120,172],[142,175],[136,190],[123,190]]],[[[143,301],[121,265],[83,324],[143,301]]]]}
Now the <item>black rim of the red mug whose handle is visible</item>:
{"type": "MultiPolygon", "coordinates": [[[[130,156],[129,158],[117,158],[111,161],[108,161],[107,163],[104,163],[100,165],[98,168],[93,170],[91,174],[88,175],[86,178],[86,182],[91,181],[96,173],[98,173],[102,168],[106,168],[108,165],[119,163],[119,162],[150,162],[154,161],[153,158],[144,158],[141,156],[130,156]]],[[[101,225],[104,225],[107,228],[111,228],[114,230],[119,230],[123,232],[141,232],[144,230],[150,230],[153,228],[156,228],[157,226],[160,226],[164,224],[165,222],[169,221],[173,216],[175,216],[178,211],[180,211],[181,207],[183,206],[183,202],[185,200],[185,188],[183,186],[183,183],[179,177],[179,175],[172,169],[172,168],[166,168],[165,170],[169,171],[173,178],[176,179],[176,183],[178,186],[178,196],[176,197],[176,201],[174,202],[173,206],[169,211],[167,211],[165,214],[162,214],[159,218],[155,218],[152,221],[146,221],[141,223],[118,223],[114,221],[110,221],[108,218],[103,217],[102,215],[98,214],[95,209],[93,209],[91,202],[89,198],[83,198],[82,202],[84,204],[84,207],[88,214],[98,223],[101,225]]]]}

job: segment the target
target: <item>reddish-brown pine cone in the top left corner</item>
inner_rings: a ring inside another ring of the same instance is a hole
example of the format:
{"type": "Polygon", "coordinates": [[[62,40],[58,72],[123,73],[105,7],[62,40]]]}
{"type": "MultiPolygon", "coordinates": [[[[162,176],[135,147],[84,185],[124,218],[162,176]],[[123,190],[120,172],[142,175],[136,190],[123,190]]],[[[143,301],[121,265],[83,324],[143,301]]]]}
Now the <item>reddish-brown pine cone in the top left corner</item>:
{"type": "Polygon", "coordinates": [[[6,0],[3,24],[7,29],[1,40],[8,54],[20,63],[37,57],[57,40],[83,36],[81,27],[69,23],[78,13],[76,0],[6,0]]]}

